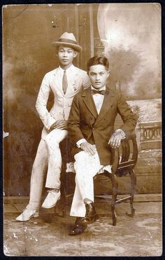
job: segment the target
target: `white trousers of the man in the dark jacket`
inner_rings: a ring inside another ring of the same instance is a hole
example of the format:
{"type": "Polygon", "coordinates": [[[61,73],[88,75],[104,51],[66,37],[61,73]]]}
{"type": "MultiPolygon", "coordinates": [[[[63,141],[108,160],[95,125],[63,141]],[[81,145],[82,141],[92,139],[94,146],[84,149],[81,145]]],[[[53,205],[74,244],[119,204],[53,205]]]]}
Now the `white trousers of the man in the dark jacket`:
{"type": "Polygon", "coordinates": [[[85,217],[86,209],[84,199],[88,198],[94,202],[94,180],[93,177],[103,167],[100,164],[99,155],[96,151],[90,156],[85,151],[80,151],[74,156],[74,168],[76,170],[76,189],[73,196],[70,215],[73,217],[85,217]]]}

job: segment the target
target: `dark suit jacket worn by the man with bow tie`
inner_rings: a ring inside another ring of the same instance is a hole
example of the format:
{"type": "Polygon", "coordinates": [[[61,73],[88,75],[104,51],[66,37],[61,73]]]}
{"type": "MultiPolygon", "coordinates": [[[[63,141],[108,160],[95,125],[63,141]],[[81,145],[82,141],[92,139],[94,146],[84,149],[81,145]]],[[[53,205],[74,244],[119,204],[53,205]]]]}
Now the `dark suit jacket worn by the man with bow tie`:
{"type": "Polygon", "coordinates": [[[99,115],[96,111],[91,88],[81,90],[76,94],[73,98],[68,121],[72,155],[82,151],[76,146],[76,142],[85,138],[90,144],[96,144],[100,163],[109,165],[111,153],[108,141],[114,132],[117,113],[120,114],[124,122],[120,129],[129,135],[136,126],[136,118],[124,97],[117,90],[106,86],[106,94],[99,115]]]}

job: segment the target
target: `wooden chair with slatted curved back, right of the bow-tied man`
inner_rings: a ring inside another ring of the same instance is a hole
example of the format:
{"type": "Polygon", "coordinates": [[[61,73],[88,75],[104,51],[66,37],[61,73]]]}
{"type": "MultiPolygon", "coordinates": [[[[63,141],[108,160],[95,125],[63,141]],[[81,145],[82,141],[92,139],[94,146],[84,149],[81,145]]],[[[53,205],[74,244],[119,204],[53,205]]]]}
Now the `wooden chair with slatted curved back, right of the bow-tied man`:
{"type": "MultiPolygon", "coordinates": [[[[106,195],[94,196],[95,198],[100,198],[102,200],[110,200],[111,201],[111,212],[113,218],[113,226],[117,223],[117,214],[115,212],[115,205],[123,203],[129,200],[131,207],[131,217],[134,216],[134,192],[136,188],[136,173],[134,172],[134,167],[136,165],[138,159],[138,147],[136,143],[136,135],[130,135],[129,137],[122,140],[120,149],[113,149],[113,166],[112,173],[103,172],[101,175],[106,175],[110,178],[112,182],[112,198],[106,195]],[[132,150],[132,153],[131,153],[132,150]],[[125,176],[129,174],[131,179],[131,188],[130,188],[130,196],[125,198],[117,198],[117,176],[125,176]]],[[[99,175],[96,175],[98,177],[99,175]]]]}

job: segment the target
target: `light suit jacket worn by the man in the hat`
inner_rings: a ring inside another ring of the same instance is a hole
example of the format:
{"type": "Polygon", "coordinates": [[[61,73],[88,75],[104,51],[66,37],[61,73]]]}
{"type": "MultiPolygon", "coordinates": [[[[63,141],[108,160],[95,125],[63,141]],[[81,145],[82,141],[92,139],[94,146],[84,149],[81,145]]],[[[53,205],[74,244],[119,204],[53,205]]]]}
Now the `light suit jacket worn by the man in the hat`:
{"type": "Polygon", "coordinates": [[[72,65],[69,69],[71,82],[64,95],[62,83],[59,84],[59,69],[58,67],[45,74],[36,100],[36,110],[46,130],[57,120],[68,120],[73,97],[81,88],[88,88],[90,85],[87,72],[72,65]],[[47,102],[51,90],[55,99],[52,109],[48,111],[47,102]]]}

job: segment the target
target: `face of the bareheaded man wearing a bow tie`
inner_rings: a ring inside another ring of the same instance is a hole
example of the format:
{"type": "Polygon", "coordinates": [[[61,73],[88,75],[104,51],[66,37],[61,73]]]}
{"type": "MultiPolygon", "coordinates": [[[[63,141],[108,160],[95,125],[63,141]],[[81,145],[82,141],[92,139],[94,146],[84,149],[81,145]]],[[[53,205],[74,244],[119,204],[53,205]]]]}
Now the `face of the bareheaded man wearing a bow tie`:
{"type": "Polygon", "coordinates": [[[89,68],[88,75],[92,86],[96,89],[100,89],[106,85],[106,80],[109,73],[110,72],[106,70],[106,67],[101,64],[91,66],[89,68]]]}

